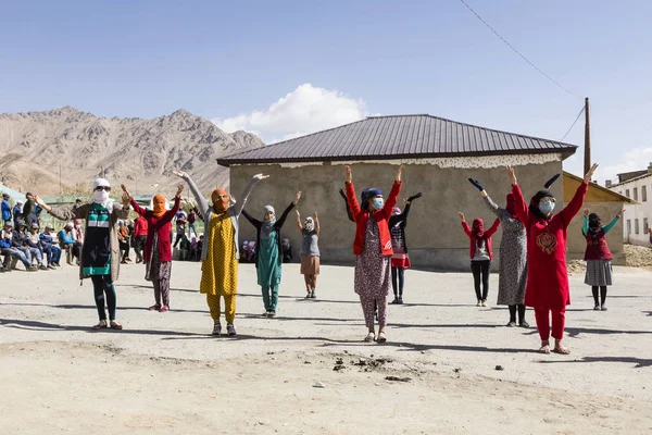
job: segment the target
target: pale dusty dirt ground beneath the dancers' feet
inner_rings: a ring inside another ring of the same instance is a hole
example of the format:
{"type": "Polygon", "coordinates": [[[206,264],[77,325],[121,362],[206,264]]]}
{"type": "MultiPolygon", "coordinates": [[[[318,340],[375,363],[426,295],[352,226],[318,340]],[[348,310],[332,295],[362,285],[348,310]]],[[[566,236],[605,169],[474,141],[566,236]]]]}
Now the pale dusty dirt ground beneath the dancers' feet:
{"type": "MultiPolygon", "coordinates": [[[[172,311],[149,312],[140,265],[117,283],[122,332],[93,332],[77,271],[0,275],[3,434],[648,434],[652,272],[615,268],[609,311],[573,275],[570,356],[535,352],[506,307],[476,308],[469,274],[406,273],[385,345],[365,344],[353,270],[323,266],[316,300],[284,265],[263,319],[240,266],[238,337],[211,337],[199,263],[175,262],[172,311]]],[[[489,300],[496,300],[492,275],[489,300]]]]}

